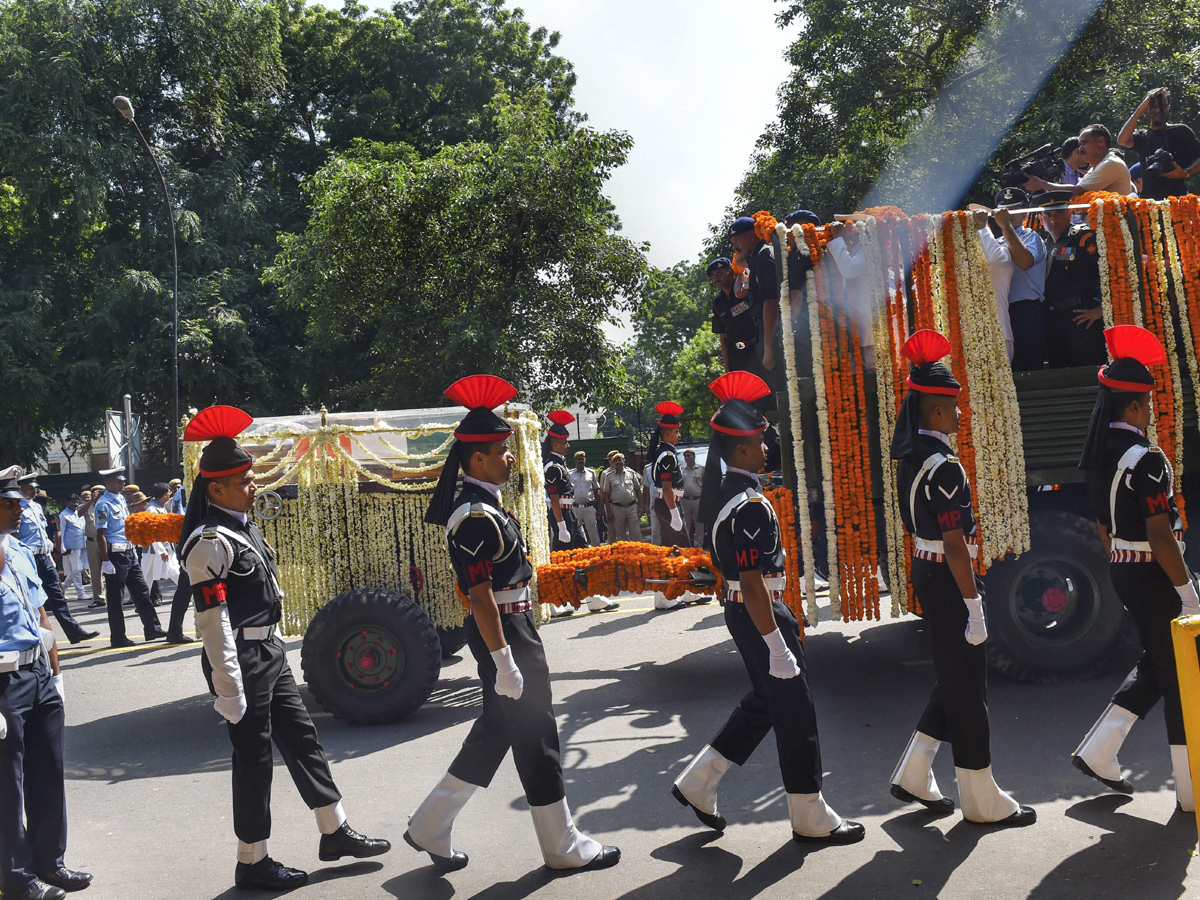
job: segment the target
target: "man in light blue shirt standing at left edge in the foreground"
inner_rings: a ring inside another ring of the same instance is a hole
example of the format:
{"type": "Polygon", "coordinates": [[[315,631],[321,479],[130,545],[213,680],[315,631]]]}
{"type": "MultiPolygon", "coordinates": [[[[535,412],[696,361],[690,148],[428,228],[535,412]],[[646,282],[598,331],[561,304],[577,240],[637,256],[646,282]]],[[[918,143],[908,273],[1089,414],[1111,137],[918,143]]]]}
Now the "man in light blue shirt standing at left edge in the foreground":
{"type": "Polygon", "coordinates": [[[62,864],[67,845],[62,776],[62,676],[49,638],[46,593],[34,554],[17,540],[20,491],[0,472],[0,892],[5,900],[60,900],[91,876],[62,864]]]}

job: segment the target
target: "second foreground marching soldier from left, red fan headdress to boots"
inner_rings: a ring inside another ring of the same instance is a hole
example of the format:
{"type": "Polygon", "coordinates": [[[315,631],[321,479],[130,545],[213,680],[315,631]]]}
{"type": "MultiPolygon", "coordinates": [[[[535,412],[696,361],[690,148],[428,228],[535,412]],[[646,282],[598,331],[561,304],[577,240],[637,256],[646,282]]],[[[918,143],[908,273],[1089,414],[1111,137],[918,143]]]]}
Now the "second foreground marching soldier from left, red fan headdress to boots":
{"type": "Polygon", "coordinates": [[[457,815],[487,787],[509,750],[524,787],[542,858],[551,869],[604,869],[620,851],[601,846],[575,827],[566,805],[546,653],[533,620],[529,562],[521,526],[500,505],[500,486],[514,458],[508,422],[492,412],[516,396],[494,376],[469,376],[445,394],[470,412],[455,428],[425,521],[444,526],[458,588],[470,604],[467,646],[479,664],[484,713],[450,769],[408,821],[404,840],[430,854],[442,872],[467,865],[455,850],[457,815]],[[455,491],[458,469],[463,486],[455,491]]]}

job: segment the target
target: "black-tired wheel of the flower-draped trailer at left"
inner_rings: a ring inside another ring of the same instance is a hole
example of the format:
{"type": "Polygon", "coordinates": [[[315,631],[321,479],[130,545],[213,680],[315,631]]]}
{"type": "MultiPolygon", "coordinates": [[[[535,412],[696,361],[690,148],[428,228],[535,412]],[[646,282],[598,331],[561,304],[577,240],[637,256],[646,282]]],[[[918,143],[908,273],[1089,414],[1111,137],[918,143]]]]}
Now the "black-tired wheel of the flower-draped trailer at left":
{"type": "Polygon", "coordinates": [[[428,698],[442,671],[442,644],[410,598],[359,588],[313,617],[300,665],[326,712],[354,725],[383,725],[406,719],[428,698]]]}

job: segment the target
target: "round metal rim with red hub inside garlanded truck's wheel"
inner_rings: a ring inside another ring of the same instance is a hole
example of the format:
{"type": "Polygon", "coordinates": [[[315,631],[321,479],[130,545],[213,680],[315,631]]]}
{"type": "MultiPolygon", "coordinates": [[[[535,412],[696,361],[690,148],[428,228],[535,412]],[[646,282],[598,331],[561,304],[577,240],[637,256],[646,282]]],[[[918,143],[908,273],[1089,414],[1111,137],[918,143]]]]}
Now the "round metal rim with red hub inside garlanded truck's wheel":
{"type": "Polygon", "coordinates": [[[1068,559],[1039,559],[1018,572],[1012,620],[1032,642],[1063,647],[1088,634],[1100,614],[1096,577],[1068,559]]]}

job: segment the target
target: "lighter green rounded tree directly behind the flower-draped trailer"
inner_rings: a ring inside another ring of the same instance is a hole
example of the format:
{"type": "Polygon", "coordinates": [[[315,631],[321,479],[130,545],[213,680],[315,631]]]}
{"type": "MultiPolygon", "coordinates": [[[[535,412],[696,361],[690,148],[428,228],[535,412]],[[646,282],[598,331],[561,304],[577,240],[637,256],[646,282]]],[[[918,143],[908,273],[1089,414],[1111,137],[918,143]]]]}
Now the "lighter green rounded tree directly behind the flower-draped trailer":
{"type": "Polygon", "coordinates": [[[308,384],[334,403],[440,406],[474,372],[538,404],[628,394],[601,325],[632,306],[644,257],[601,187],[631,142],[559,138],[536,97],[491,108],[491,143],[426,158],[358,143],[306,184],[312,220],[282,238],[269,276],[306,313],[308,384]]]}

